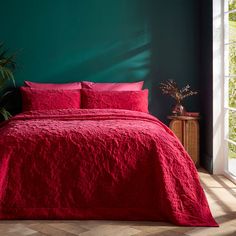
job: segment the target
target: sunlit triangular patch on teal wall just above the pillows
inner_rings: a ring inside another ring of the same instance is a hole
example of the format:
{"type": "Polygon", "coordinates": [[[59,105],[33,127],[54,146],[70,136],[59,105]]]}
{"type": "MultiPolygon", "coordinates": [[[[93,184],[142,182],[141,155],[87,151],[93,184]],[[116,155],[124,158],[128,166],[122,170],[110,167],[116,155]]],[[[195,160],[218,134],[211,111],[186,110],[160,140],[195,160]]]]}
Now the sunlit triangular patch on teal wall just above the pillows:
{"type": "Polygon", "coordinates": [[[127,42],[114,42],[112,48],[106,48],[77,64],[75,61],[64,71],[48,77],[47,81],[63,81],[65,77],[71,81],[94,82],[141,80],[149,70],[150,42],[146,33],[135,34],[127,42]]]}

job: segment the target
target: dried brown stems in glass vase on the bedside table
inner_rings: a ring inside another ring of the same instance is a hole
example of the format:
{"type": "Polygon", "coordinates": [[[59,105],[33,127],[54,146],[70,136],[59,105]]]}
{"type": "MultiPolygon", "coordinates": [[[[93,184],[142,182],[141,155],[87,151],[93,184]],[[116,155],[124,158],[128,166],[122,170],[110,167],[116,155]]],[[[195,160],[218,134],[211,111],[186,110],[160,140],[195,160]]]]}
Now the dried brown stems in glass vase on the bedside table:
{"type": "Polygon", "coordinates": [[[162,82],[160,84],[160,89],[163,94],[171,96],[176,101],[176,104],[172,109],[174,115],[184,115],[185,108],[182,101],[189,96],[197,94],[196,91],[190,89],[190,85],[186,85],[180,89],[174,80],[162,82]]]}

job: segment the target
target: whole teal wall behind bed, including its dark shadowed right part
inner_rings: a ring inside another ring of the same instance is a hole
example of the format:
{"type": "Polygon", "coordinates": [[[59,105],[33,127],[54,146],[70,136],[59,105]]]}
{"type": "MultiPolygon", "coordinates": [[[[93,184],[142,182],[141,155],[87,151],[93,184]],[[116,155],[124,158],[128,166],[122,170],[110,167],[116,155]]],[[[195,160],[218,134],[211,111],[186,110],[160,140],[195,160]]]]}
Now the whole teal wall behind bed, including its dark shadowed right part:
{"type": "Polygon", "coordinates": [[[8,0],[0,40],[21,49],[17,85],[145,80],[150,111],[166,121],[172,101],[160,81],[199,87],[198,20],[197,0],[8,0]]]}

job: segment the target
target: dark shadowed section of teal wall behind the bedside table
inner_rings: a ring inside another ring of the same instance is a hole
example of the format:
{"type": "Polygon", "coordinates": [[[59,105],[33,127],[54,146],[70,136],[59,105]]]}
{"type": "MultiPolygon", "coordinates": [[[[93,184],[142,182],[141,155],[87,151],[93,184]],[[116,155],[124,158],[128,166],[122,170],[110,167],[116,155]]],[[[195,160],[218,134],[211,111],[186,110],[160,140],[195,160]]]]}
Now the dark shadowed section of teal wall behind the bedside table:
{"type": "MultiPolygon", "coordinates": [[[[161,94],[160,82],[174,79],[182,87],[190,84],[199,90],[199,2],[151,1],[150,108],[163,122],[168,123],[175,101],[161,94]]],[[[199,111],[199,95],[184,101],[187,111],[199,111]]]]}

